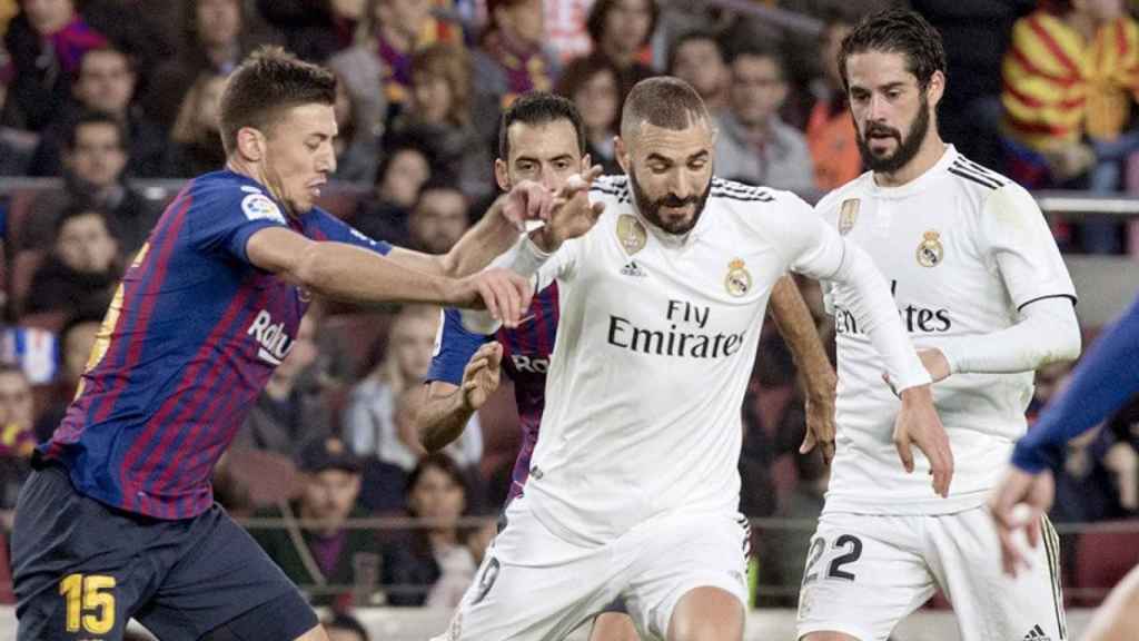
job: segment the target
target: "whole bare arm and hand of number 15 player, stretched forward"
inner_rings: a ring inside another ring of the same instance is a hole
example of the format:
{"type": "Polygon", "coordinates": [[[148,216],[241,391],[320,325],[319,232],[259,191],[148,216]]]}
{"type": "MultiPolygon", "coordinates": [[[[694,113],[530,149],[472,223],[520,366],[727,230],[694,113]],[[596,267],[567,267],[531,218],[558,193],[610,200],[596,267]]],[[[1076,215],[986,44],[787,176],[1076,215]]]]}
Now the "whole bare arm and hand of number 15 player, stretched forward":
{"type": "Polygon", "coordinates": [[[338,300],[485,306],[492,316],[515,320],[530,306],[530,282],[506,270],[482,271],[457,281],[409,269],[346,243],[311,241],[284,227],[256,232],[245,250],[249,261],[261,269],[338,300]]]}

